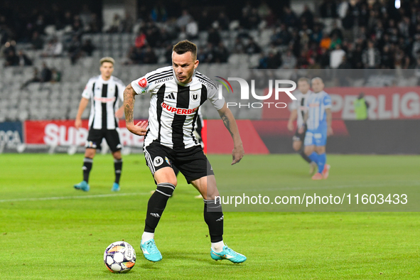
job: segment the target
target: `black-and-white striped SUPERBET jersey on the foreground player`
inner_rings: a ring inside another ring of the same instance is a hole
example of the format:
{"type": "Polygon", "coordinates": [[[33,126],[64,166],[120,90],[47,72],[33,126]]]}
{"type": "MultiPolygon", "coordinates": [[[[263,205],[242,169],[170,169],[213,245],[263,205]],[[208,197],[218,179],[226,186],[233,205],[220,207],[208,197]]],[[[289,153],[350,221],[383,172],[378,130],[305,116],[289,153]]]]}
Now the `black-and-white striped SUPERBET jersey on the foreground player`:
{"type": "Polygon", "coordinates": [[[200,145],[193,131],[199,107],[209,99],[218,110],[225,99],[218,98],[212,80],[194,71],[193,80],[183,84],[176,79],[172,66],[159,68],[131,82],[136,94],[151,95],[149,130],[144,146],[158,141],[171,149],[187,149],[200,145]]]}

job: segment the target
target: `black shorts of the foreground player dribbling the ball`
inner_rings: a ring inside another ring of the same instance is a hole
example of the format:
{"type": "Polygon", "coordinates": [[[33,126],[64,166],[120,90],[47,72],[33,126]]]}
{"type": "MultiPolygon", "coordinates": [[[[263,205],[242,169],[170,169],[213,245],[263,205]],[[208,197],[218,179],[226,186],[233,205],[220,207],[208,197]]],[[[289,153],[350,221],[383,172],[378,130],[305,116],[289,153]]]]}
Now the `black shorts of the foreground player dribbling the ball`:
{"type": "Polygon", "coordinates": [[[174,150],[154,141],[144,147],[144,158],[146,158],[146,164],[152,175],[163,167],[173,166],[183,173],[187,183],[205,176],[215,175],[201,146],[174,150]]]}

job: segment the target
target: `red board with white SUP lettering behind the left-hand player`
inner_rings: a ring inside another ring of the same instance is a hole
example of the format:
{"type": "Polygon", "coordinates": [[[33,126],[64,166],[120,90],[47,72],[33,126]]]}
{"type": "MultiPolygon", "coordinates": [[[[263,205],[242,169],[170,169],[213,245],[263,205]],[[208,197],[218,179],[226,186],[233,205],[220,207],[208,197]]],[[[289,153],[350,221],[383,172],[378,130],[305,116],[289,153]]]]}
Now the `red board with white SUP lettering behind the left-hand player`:
{"type": "MultiPolygon", "coordinates": [[[[87,139],[87,120],[82,121],[80,129],[75,128],[73,120],[26,121],[24,136],[26,144],[48,146],[83,146],[87,139]]],[[[123,146],[143,146],[143,136],[136,136],[125,128],[124,120],[119,121],[119,137],[123,146]]]]}

